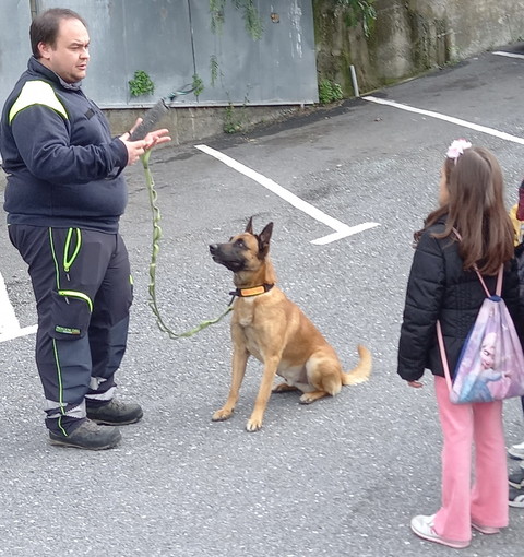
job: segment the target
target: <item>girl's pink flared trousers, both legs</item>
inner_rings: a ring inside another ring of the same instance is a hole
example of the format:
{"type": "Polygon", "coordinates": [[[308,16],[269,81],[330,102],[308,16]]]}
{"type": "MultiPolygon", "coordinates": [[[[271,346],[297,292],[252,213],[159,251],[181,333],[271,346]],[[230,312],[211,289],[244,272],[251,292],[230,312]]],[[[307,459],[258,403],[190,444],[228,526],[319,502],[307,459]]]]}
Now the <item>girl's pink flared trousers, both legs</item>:
{"type": "Polygon", "coordinates": [[[449,540],[469,541],[472,522],[483,526],[508,525],[502,401],[453,404],[445,379],[438,376],[434,389],[444,438],[442,507],[434,519],[434,531],[449,540]]]}

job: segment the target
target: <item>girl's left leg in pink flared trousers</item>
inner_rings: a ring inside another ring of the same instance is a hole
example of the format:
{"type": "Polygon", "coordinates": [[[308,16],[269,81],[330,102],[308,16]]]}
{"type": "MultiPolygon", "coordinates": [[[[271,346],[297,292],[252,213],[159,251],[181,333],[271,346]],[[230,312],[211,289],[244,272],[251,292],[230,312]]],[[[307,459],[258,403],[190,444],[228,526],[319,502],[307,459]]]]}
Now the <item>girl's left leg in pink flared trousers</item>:
{"type": "MultiPolygon", "coordinates": [[[[434,378],[442,449],[442,507],[434,519],[434,531],[455,541],[472,538],[469,513],[473,446],[471,404],[453,404],[443,377],[434,378]]],[[[493,524],[495,525],[495,524],[493,524]]]]}

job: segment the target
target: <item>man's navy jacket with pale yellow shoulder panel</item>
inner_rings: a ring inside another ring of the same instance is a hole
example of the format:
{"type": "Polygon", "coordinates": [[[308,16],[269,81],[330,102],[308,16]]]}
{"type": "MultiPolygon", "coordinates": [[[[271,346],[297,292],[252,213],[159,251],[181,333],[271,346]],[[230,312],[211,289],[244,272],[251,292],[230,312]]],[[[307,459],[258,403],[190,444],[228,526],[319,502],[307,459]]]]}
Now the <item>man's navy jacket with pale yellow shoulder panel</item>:
{"type": "Polygon", "coordinates": [[[34,57],[3,107],[0,152],[9,224],[118,230],[126,145],[80,84],[34,57]]]}

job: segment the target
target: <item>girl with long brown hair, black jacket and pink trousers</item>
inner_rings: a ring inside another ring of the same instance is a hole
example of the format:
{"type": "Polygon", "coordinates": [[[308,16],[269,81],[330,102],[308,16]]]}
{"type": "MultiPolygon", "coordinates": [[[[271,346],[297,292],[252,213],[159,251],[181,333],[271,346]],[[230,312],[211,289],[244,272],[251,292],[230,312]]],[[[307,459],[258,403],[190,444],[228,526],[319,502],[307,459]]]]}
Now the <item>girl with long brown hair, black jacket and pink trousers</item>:
{"type": "Polygon", "coordinates": [[[513,319],[517,318],[513,238],[497,159],[484,147],[454,141],[441,170],[439,208],[415,234],[417,246],[398,345],[398,374],[410,387],[422,387],[425,369],[433,374],[443,434],[441,507],[434,514],[415,517],[412,530],[424,540],[454,548],[469,545],[472,528],[497,534],[508,525],[502,402],[450,402],[436,323],[441,323],[450,369],[454,370],[486,297],[475,268],[495,292],[501,264],[502,297],[513,319]]]}

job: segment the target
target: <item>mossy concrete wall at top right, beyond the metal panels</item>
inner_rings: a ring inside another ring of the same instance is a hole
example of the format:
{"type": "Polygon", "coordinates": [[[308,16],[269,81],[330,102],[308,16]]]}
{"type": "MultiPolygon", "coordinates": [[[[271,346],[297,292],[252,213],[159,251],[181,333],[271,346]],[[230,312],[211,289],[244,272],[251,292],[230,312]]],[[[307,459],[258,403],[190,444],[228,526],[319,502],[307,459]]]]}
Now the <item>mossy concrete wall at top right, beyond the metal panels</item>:
{"type": "Polygon", "coordinates": [[[524,0],[376,0],[369,37],[347,27],[332,0],[313,0],[317,64],[321,76],[353,94],[524,39],[524,0]]]}

